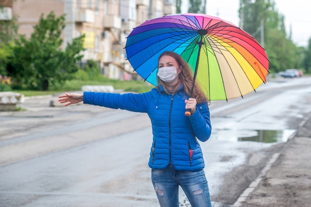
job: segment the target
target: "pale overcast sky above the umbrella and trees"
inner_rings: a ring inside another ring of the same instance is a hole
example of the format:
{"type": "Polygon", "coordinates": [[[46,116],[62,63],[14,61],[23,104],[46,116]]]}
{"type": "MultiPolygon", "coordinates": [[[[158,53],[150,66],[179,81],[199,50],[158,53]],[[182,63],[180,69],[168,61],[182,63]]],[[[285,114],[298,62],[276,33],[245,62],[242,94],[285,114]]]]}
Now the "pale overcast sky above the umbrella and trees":
{"type": "MultiPolygon", "coordinates": [[[[186,0],[183,0],[186,1],[186,0]]],[[[271,0],[273,1],[273,0],[271,0]]],[[[285,17],[287,34],[292,27],[292,40],[297,46],[308,46],[311,38],[311,3],[309,0],[274,0],[275,9],[285,17]]],[[[239,0],[207,0],[207,14],[239,25],[239,0]]],[[[183,8],[182,13],[187,12],[183,8]]]]}

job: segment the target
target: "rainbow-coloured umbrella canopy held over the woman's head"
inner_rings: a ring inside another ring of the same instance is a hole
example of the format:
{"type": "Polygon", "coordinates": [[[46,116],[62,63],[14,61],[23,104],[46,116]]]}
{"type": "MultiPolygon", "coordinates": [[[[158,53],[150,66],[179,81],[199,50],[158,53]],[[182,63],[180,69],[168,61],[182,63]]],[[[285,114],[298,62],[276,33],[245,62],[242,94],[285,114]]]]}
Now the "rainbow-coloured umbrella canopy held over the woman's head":
{"type": "Polygon", "coordinates": [[[243,97],[266,82],[268,58],[248,33],[205,14],[173,14],[145,21],[127,37],[127,58],[134,70],[156,85],[162,52],[181,55],[209,100],[243,97]]]}

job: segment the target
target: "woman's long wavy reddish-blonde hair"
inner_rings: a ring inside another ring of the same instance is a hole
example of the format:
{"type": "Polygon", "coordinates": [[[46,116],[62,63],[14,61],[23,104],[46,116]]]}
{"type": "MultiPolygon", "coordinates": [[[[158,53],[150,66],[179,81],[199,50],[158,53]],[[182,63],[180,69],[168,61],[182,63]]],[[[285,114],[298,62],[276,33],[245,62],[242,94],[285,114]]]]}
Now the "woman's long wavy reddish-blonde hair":
{"type": "MultiPolygon", "coordinates": [[[[180,73],[179,73],[180,83],[184,86],[184,92],[190,97],[193,75],[192,75],[192,71],[191,71],[188,63],[179,54],[177,54],[176,52],[170,52],[170,51],[163,52],[159,56],[158,59],[160,59],[164,55],[171,56],[177,61],[178,65],[180,67],[180,73]]],[[[157,86],[156,86],[157,89],[159,89],[159,86],[162,85],[164,88],[164,91],[166,93],[169,92],[169,84],[168,83],[162,81],[158,76],[156,76],[156,81],[157,81],[157,86]]],[[[194,83],[194,88],[193,88],[193,93],[192,93],[191,98],[196,99],[198,104],[201,104],[205,101],[208,101],[206,95],[202,91],[199,84],[197,84],[197,82],[194,83]]]]}

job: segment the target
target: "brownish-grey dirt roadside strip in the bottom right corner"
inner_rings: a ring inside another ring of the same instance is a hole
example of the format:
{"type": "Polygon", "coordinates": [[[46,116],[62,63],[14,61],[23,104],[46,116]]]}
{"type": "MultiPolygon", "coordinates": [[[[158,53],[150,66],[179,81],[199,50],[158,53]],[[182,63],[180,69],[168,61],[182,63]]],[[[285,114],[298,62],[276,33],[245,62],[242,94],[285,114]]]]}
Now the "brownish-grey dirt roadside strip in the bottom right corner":
{"type": "Polygon", "coordinates": [[[311,206],[311,114],[276,155],[260,182],[246,189],[233,207],[311,206]]]}

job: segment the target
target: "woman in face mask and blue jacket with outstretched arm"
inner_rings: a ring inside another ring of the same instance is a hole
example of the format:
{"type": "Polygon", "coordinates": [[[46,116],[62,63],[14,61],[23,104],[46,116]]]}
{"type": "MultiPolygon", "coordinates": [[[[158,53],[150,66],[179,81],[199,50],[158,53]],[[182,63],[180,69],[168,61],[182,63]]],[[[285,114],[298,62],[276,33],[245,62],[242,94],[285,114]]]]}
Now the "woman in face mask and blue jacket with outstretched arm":
{"type": "Polygon", "coordinates": [[[148,113],[153,129],[149,166],[161,207],[178,207],[181,186],[192,207],[211,207],[204,160],[197,141],[211,135],[207,99],[195,84],[188,64],[175,52],[158,59],[157,86],[143,94],[84,92],[59,96],[65,105],[82,102],[110,108],[148,113]],[[191,115],[185,116],[185,109],[191,115]]]}

